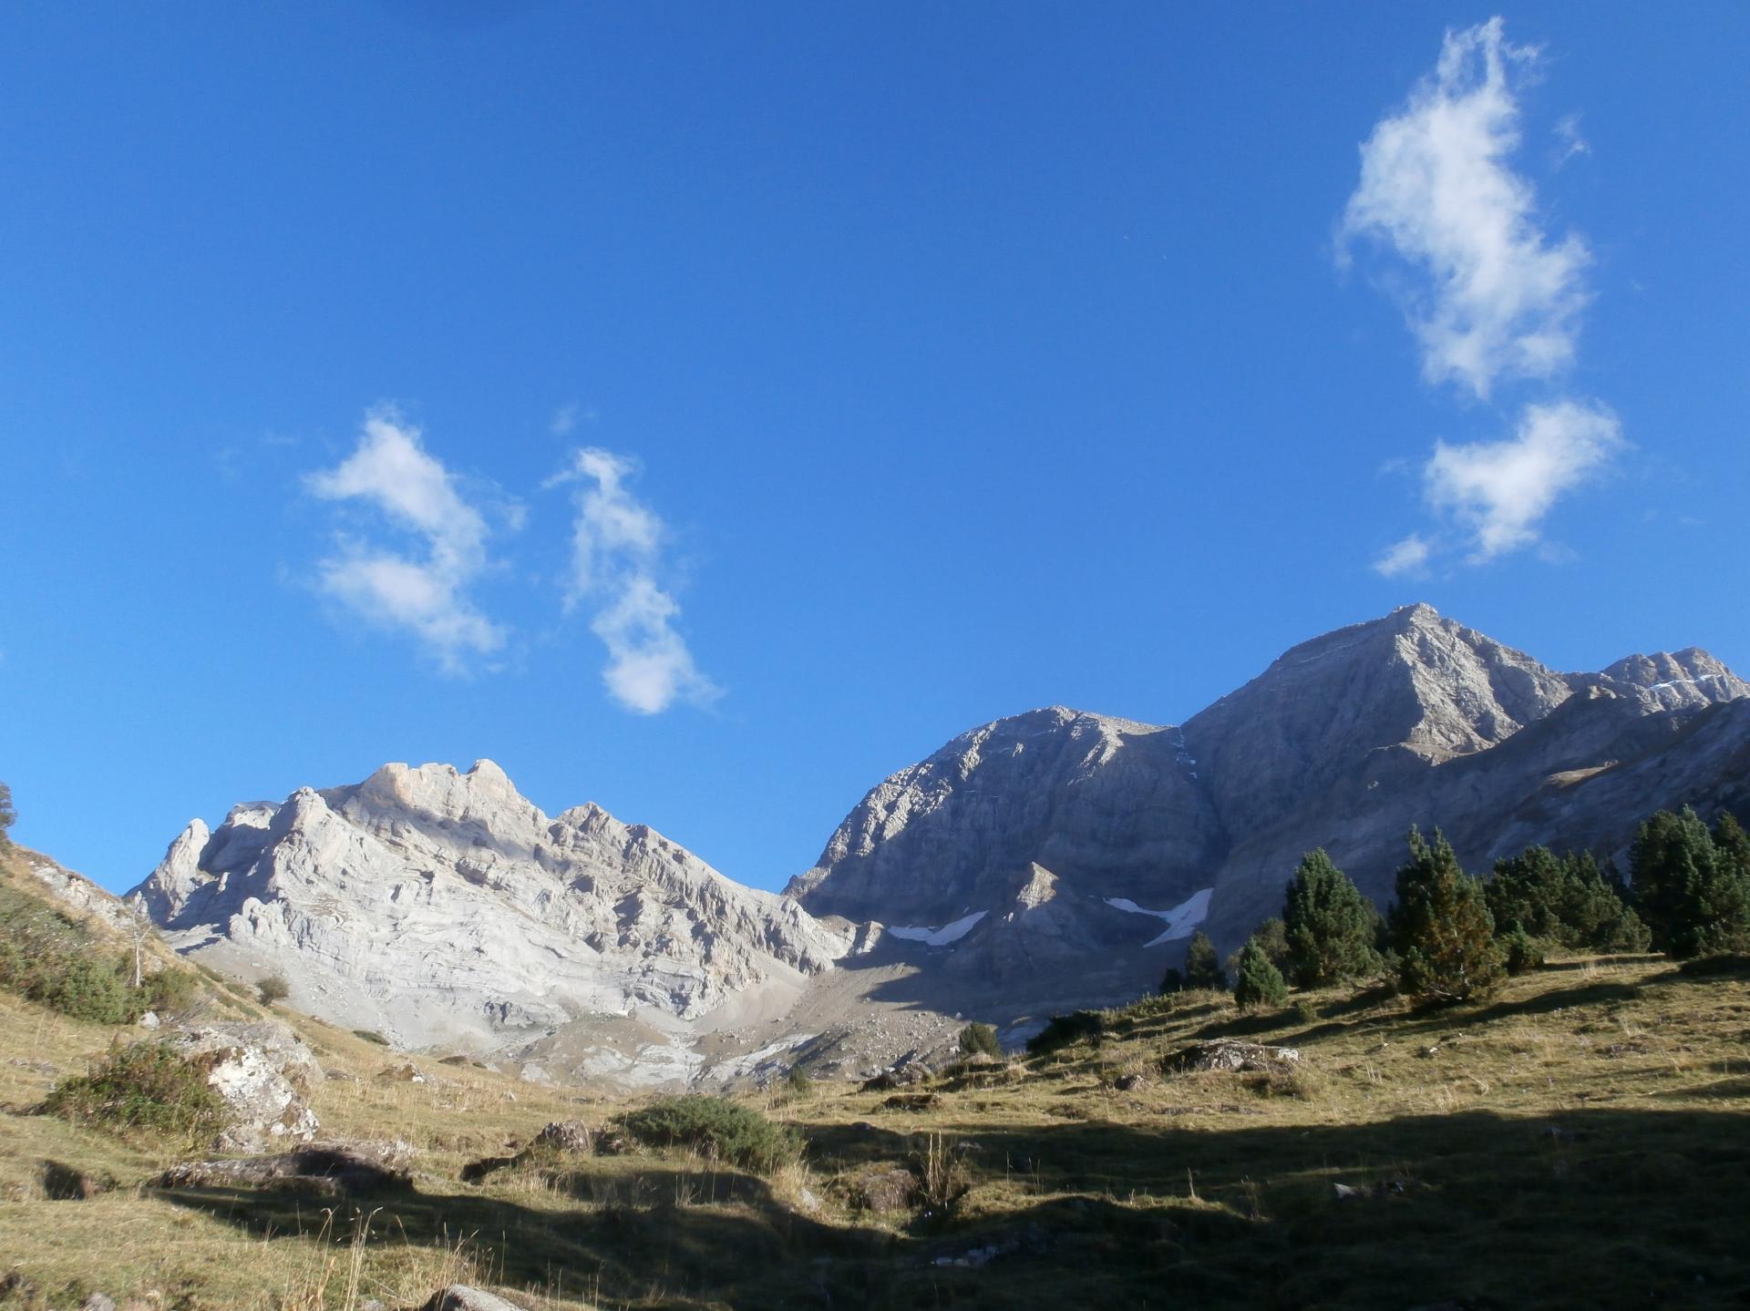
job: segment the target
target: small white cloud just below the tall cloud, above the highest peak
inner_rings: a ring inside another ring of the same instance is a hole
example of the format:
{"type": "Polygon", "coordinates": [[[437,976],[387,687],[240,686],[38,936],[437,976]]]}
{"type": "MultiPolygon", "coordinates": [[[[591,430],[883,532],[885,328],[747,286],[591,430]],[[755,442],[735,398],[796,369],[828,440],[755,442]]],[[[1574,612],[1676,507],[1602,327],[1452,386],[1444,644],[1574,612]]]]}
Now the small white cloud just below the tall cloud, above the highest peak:
{"type": "Polygon", "coordinates": [[[1437,443],[1423,469],[1428,502],[1468,532],[1472,562],[1493,560],[1536,543],[1556,499],[1596,476],[1622,445],[1622,425],[1596,401],[1530,404],[1512,438],[1437,443]]]}

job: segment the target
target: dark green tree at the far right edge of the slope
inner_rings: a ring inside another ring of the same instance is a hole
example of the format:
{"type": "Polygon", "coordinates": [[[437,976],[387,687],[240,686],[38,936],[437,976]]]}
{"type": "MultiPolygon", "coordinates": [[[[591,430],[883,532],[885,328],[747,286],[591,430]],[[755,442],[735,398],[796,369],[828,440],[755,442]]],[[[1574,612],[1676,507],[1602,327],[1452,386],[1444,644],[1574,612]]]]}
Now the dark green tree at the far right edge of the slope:
{"type": "Polygon", "coordinates": [[[1629,849],[1634,901],[1652,945],[1678,959],[1750,950],[1750,842],[1722,816],[1708,831],[1687,805],[1659,810],[1629,849]]]}

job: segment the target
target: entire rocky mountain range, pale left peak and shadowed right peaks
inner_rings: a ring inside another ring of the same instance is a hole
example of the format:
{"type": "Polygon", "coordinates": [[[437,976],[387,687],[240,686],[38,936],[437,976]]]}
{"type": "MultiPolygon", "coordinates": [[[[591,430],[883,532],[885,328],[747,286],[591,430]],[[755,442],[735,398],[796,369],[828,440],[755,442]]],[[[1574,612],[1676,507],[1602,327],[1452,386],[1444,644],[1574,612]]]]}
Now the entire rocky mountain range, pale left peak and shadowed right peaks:
{"type": "Polygon", "coordinates": [[[136,889],[182,952],[278,973],[402,1047],[618,1083],[864,1073],[1017,1038],[1227,950],[1325,847],[1384,905],[1412,824],[1468,868],[1620,859],[1650,810],[1750,803],[1750,684],[1699,649],[1563,674],[1407,606],[1295,646],[1183,725],[1064,707],[882,781],[782,896],[492,761],[194,821],[136,889]]]}

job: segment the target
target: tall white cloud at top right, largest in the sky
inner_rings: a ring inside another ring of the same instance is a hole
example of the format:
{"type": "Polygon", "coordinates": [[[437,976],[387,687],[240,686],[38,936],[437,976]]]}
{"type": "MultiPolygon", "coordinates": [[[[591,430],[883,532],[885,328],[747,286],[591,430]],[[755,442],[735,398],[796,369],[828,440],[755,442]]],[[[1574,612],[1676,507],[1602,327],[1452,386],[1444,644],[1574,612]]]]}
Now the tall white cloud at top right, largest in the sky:
{"type": "Polygon", "coordinates": [[[1377,238],[1426,275],[1407,306],[1423,375],[1477,397],[1568,366],[1589,299],[1586,243],[1550,240],[1533,186],[1507,165],[1519,147],[1512,82],[1536,58],[1505,40],[1500,18],[1447,32],[1433,74],[1362,145],[1342,219],[1346,238],[1377,238]]]}

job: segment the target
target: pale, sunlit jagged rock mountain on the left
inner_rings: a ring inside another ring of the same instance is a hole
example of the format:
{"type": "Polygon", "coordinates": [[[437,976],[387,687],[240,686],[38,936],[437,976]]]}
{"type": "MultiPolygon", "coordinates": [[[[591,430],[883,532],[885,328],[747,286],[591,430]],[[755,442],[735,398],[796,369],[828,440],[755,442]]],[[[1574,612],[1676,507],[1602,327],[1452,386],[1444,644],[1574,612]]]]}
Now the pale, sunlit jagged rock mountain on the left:
{"type": "Polygon", "coordinates": [[[138,891],[178,950],[280,973],[298,1008],[410,1047],[502,1047],[588,1015],[700,1027],[747,992],[800,991],[849,945],[600,807],[550,819],[492,761],[385,765],[212,833],[194,821],[138,891]]]}

